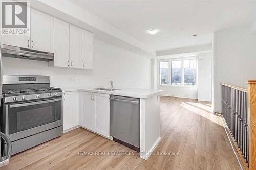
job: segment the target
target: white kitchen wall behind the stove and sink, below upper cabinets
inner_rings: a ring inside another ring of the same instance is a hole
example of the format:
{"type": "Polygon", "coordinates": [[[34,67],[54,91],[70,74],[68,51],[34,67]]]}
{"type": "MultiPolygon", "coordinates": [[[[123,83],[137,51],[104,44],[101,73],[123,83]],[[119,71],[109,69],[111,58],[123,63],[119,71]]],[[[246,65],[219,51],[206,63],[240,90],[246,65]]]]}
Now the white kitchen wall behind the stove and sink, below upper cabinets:
{"type": "Polygon", "coordinates": [[[94,69],[48,67],[48,62],[3,58],[3,74],[49,75],[52,87],[150,88],[150,59],[94,39],[94,69]]]}

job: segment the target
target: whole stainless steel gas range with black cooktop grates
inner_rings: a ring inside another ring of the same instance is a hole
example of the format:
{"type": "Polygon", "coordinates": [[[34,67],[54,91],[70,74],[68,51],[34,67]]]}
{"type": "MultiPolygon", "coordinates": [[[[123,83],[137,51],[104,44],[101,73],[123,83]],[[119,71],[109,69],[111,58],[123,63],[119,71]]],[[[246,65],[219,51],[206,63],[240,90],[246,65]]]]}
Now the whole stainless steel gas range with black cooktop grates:
{"type": "Polygon", "coordinates": [[[62,91],[49,76],[3,75],[2,97],[1,131],[12,155],[62,135],[62,91]]]}

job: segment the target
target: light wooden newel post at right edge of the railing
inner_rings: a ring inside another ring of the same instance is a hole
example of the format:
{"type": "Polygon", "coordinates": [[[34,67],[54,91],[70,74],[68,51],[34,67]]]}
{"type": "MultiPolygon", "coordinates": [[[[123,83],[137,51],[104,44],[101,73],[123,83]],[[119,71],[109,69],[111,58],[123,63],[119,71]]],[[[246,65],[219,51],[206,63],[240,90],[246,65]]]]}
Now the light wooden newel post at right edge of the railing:
{"type": "Polygon", "coordinates": [[[256,80],[248,81],[249,169],[256,169],[256,80]]]}

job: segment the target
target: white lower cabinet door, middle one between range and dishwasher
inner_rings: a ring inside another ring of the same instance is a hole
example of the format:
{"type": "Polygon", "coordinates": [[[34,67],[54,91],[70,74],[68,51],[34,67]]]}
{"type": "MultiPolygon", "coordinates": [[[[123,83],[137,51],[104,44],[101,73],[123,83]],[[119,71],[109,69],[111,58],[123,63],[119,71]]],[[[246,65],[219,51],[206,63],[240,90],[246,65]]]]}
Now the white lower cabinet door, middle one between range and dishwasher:
{"type": "Polygon", "coordinates": [[[81,120],[80,125],[84,128],[95,130],[95,102],[92,98],[92,93],[81,93],[81,120]]]}

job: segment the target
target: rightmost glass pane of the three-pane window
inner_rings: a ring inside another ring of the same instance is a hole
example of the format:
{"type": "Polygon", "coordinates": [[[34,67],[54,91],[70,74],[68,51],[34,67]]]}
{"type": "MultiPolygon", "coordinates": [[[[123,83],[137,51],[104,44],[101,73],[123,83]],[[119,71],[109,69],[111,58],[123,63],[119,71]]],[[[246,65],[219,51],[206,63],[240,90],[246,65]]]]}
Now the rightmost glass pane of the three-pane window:
{"type": "Polygon", "coordinates": [[[196,60],[184,60],[184,85],[196,85],[196,60]]]}

